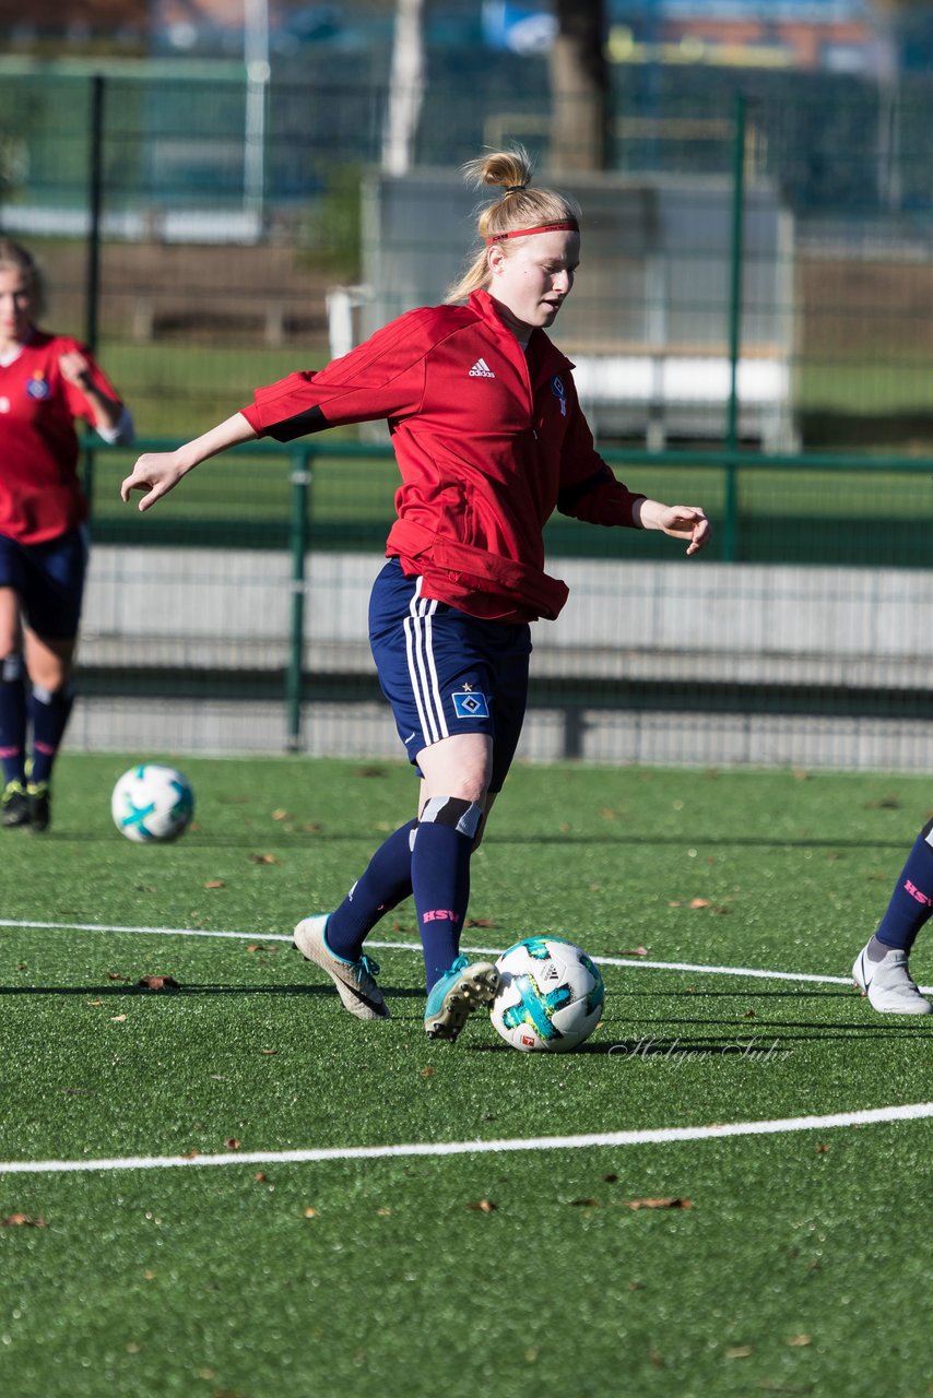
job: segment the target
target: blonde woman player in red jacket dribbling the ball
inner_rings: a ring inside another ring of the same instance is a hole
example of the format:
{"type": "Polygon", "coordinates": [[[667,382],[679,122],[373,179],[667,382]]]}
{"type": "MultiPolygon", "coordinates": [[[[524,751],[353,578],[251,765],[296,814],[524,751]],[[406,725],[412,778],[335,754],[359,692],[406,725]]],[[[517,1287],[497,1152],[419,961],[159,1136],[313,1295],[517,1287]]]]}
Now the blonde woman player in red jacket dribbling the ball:
{"type": "Polygon", "coordinates": [[[656,528],[695,554],[699,506],[662,505],[615,480],[593,447],[572,365],[544,333],[574,285],[578,210],[530,186],[523,151],[467,166],[504,193],[478,221],[483,250],[443,306],[407,312],[320,373],[256,390],[255,403],[176,452],[141,456],[122,495],[148,509],[200,461],[269,433],[290,440],[386,418],[401,473],[389,562],[372,590],[369,642],[399,737],[421,776],[418,814],[376,850],[329,914],[295,945],[359,1019],[385,1019],[376,921],[414,895],[431,1037],[456,1039],[488,1004],[495,967],[459,955],[470,856],[515,754],[525,716],[529,622],[560,612],[543,527],[558,509],[596,524],[656,528]],[[466,301],[466,305],[463,302],[466,301]]]}

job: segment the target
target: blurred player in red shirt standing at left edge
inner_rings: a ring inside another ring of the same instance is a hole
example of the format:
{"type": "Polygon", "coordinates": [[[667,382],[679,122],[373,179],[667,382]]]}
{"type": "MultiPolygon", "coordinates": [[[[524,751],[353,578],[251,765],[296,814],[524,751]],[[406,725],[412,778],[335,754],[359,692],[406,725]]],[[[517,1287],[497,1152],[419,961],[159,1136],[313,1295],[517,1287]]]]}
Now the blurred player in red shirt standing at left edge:
{"type": "Polygon", "coordinates": [[[36,329],[42,309],[32,256],[0,239],[0,823],[34,830],[49,823],[87,570],[74,421],[106,442],[133,440],[92,355],[36,329]]]}

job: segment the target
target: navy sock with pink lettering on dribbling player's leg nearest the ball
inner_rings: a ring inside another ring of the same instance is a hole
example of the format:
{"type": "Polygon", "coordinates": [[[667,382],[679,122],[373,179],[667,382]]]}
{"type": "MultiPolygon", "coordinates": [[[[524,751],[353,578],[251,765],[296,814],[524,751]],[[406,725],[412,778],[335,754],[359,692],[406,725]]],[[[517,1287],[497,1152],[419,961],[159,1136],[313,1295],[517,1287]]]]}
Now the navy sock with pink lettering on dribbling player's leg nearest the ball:
{"type": "Polygon", "coordinates": [[[418,819],[411,886],[428,990],[457,959],[470,900],[470,856],[481,819],[481,805],[448,795],[427,801],[418,819]]]}

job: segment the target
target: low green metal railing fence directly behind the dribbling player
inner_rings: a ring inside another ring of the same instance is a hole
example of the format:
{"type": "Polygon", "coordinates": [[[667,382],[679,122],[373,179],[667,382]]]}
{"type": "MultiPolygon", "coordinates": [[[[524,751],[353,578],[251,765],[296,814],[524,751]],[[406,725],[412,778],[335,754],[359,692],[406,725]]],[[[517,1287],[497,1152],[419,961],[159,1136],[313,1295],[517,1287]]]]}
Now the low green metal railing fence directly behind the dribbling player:
{"type": "MultiPolygon", "coordinates": [[[[175,445],[145,439],[137,450],[175,445]]],[[[575,628],[589,637],[576,649],[546,653],[532,692],[533,709],[562,714],[562,755],[583,755],[579,726],[587,710],[646,706],[772,719],[835,713],[836,744],[876,720],[909,717],[923,728],[933,726],[933,636],[918,610],[929,591],[929,480],[925,512],[894,517],[898,502],[906,513],[920,477],[929,475],[923,461],[891,460],[878,473],[857,456],[628,450],[607,457],[634,488],[706,503],[716,535],[704,561],[688,563],[659,534],[551,521],[548,566],[562,576],[569,569],[578,594],[575,628]],[[881,500],[890,514],[887,533],[880,530],[881,500]],[[673,608],[674,619],[678,612],[683,618],[683,640],[663,639],[631,618],[615,621],[620,605],[646,617],[659,605],[673,608]],[[779,614],[776,622],[771,612],[779,614]],[[610,653],[618,663],[608,663],[610,653]]],[[[92,692],[165,693],[175,686],[192,700],[236,693],[262,699],[280,707],[288,751],[308,747],[322,698],[348,714],[355,703],[378,699],[365,656],[364,607],[357,605],[355,625],[334,625],[334,617],[348,598],[341,562],[351,559],[355,573],[368,569],[368,576],[379,566],[397,481],[387,446],[327,438],[290,446],[259,442],[206,463],[147,514],[119,499],[130,460],[122,449],[95,453],[95,558],[108,559],[102,566],[109,593],[126,591],[129,568],[144,598],[158,596],[178,582],[179,558],[199,562],[180,565],[193,568],[192,586],[182,587],[161,628],[144,604],[141,614],[129,608],[122,633],[112,624],[108,633],[113,604],[91,608],[92,657],[98,633],[123,642],[111,647],[109,660],[85,665],[92,692]],[[150,563],[152,555],[162,559],[161,570],[150,563]],[[204,562],[206,555],[214,561],[204,562]],[[248,563],[249,555],[257,565],[248,563]],[[325,556],[334,562],[318,577],[325,556]],[[271,582],[263,558],[281,559],[271,582]],[[222,611],[235,619],[255,572],[266,577],[262,625],[277,640],[273,658],[264,647],[259,663],[255,644],[243,642],[235,624],[221,644],[217,612],[206,611],[199,594],[199,577],[220,577],[222,611]],[[159,658],[152,636],[171,636],[171,653],[159,658]],[[190,640],[185,653],[179,637],[190,640]]],[[[364,587],[355,575],[352,586],[364,587]]]]}

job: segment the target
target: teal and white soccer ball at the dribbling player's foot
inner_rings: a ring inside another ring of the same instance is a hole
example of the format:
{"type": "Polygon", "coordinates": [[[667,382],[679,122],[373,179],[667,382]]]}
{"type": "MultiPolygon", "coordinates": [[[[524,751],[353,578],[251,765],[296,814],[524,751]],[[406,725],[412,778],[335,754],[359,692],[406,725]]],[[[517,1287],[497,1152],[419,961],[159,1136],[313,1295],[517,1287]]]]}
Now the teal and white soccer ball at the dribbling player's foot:
{"type": "Polygon", "coordinates": [[[499,988],[490,1018],[512,1048],[569,1053],[603,1016],[603,977],[574,942],[529,937],[502,952],[495,967],[499,988]]]}

